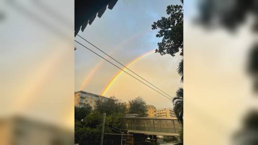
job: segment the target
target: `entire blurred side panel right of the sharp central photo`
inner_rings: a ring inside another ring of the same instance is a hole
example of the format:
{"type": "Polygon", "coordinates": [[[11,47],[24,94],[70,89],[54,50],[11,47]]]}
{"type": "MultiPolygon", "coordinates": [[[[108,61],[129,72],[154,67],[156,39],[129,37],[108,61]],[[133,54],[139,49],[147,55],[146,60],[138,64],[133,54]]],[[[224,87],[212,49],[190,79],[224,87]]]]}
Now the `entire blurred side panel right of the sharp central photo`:
{"type": "Polygon", "coordinates": [[[258,145],[258,1],[184,1],[185,145],[258,145]]]}

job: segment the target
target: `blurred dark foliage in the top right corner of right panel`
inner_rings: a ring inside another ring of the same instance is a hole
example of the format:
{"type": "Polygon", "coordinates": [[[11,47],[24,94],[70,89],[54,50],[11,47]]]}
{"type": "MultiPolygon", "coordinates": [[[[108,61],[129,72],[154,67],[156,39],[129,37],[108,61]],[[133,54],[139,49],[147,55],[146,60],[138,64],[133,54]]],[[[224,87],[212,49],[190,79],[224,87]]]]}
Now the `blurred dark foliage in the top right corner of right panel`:
{"type": "MultiPolygon", "coordinates": [[[[247,14],[258,16],[257,0],[202,0],[199,6],[201,23],[205,26],[213,25],[213,20],[221,26],[235,30],[242,24],[247,14]]],[[[255,20],[254,30],[258,30],[258,19],[255,20]]]]}

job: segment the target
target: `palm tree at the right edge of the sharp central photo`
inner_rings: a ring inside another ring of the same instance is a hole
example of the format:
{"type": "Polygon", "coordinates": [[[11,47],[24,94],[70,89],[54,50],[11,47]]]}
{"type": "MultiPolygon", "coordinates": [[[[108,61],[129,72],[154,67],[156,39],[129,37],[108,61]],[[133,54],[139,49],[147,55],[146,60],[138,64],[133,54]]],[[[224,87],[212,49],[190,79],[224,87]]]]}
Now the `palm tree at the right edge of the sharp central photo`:
{"type": "Polygon", "coordinates": [[[178,121],[183,124],[183,88],[180,87],[176,92],[176,97],[172,100],[174,104],[174,112],[178,121]]]}

